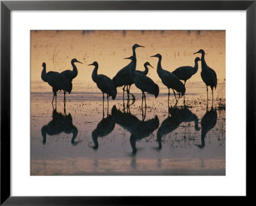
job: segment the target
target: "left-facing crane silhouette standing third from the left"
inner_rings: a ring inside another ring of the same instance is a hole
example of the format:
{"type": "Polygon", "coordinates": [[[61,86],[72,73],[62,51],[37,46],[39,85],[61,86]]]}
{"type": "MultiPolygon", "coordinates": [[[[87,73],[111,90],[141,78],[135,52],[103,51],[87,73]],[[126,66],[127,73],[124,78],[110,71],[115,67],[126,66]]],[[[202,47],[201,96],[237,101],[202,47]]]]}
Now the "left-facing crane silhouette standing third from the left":
{"type": "Polygon", "coordinates": [[[92,64],[89,64],[88,66],[90,65],[95,66],[92,72],[92,80],[97,84],[97,87],[100,89],[100,91],[103,94],[103,104],[104,104],[104,93],[107,94],[107,98],[111,96],[112,99],[115,99],[116,87],[114,82],[111,80],[111,78],[107,77],[106,75],[98,75],[99,64],[96,61],[93,62],[92,64]]]}

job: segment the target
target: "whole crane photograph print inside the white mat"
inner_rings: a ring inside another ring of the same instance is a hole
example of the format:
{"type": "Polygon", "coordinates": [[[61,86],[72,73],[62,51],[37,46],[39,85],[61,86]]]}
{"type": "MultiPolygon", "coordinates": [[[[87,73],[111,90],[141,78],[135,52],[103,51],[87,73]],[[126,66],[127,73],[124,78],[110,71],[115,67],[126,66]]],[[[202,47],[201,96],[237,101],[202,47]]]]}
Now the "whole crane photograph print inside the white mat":
{"type": "Polygon", "coordinates": [[[225,31],[31,31],[31,175],[225,175],[225,31]]]}

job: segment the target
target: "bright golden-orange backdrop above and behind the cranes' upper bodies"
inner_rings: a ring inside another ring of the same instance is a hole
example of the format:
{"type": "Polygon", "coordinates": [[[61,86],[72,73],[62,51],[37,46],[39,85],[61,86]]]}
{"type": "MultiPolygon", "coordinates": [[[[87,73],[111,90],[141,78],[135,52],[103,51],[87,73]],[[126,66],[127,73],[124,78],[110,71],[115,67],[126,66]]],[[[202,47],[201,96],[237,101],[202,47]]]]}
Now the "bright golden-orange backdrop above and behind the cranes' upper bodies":
{"type": "MultiPolygon", "coordinates": [[[[110,78],[130,60],[132,45],[138,43],[145,48],[136,49],[137,70],[144,70],[148,61],[155,69],[150,69],[148,77],[159,80],[156,72],[157,58],[163,56],[164,70],[174,71],[179,66],[194,66],[193,53],[205,50],[205,61],[216,71],[219,81],[225,80],[225,31],[31,31],[31,81],[41,80],[42,63],[47,71],[72,70],[71,59],[76,64],[78,75],[74,83],[92,81],[93,66],[97,61],[99,73],[110,78]]],[[[202,81],[201,65],[189,81],[202,81]]]]}

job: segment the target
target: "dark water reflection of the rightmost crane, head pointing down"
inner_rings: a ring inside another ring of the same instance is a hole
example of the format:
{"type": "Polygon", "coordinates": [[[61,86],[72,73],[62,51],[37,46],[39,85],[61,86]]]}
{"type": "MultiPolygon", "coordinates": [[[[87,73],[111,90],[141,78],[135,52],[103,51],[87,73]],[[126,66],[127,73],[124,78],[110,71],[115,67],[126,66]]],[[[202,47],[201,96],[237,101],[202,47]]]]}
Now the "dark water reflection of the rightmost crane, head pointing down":
{"type": "Polygon", "coordinates": [[[201,145],[197,145],[200,148],[204,148],[205,146],[205,136],[214,126],[217,122],[217,111],[211,107],[211,110],[207,110],[204,117],[201,120],[201,127],[202,127],[202,133],[201,133],[201,145]]]}

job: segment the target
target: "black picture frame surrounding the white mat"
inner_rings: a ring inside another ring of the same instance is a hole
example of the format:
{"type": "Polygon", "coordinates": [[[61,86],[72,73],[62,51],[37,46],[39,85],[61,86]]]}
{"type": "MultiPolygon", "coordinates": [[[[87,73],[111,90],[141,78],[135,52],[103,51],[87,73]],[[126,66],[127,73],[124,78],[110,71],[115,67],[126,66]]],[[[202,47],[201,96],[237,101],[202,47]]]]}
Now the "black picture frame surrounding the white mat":
{"type": "MultiPolygon", "coordinates": [[[[236,203],[239,203],[237,200],[244,201],[244,198],[246,200],[253,198],[255,175],[252,172],[254,171],[256,145],[254,129],[256,77],[255,0],[1,1],[1,205],[152,205],[156,202],[161,205],[166,201],[170,201],[171,198],[163,196],[10,196],[10,12],[12,10],[246,10],[246,91],[244,91],[246,92],[246,197],[236,198],[236,203]]],[[[214,203],[214,198],[209,198],[214,203]]],[[[197,198],[193,200],[198,201],[197,198]]],[[[201,201],[204,200],[200,199],[201,201]]]]}

